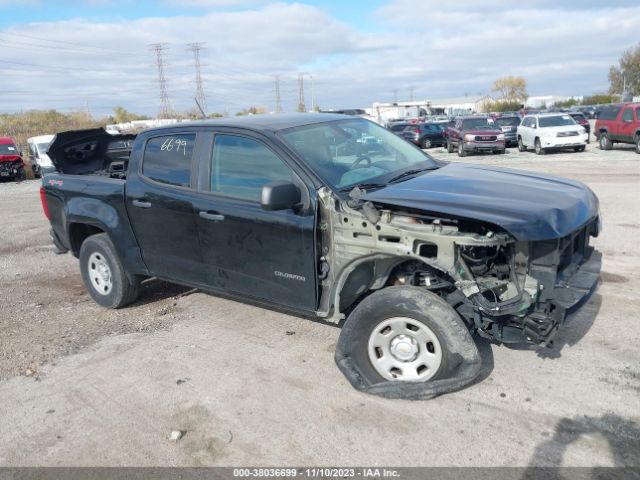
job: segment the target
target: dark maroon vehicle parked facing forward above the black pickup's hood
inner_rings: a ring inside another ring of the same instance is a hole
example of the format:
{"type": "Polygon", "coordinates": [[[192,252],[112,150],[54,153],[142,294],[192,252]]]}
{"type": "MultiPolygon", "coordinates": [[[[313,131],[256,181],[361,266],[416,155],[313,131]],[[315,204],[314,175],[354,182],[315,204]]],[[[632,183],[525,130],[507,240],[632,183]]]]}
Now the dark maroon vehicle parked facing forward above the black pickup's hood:
{"type": "Polygon", "coordinates": [[[467,153],[504,153],[505,141],[502,129],[488,116],[460,117],[447,129],[447,151],[464,157],[467,153]]]}

